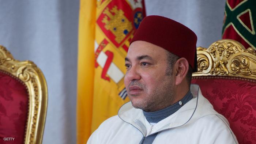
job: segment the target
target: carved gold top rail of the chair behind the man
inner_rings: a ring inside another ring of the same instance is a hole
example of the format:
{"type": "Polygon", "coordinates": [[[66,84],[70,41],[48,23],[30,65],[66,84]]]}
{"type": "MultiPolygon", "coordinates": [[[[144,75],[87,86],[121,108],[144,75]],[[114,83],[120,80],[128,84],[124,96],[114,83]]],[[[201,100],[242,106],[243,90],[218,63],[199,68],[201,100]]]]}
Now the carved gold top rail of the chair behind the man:
{"type": "Polygon", "coordinates": [[[193,79],[240,79],[256,83],[255,49],[231,39],[221,39],[208,49],[197,48],[197,69],[193,79]]]}

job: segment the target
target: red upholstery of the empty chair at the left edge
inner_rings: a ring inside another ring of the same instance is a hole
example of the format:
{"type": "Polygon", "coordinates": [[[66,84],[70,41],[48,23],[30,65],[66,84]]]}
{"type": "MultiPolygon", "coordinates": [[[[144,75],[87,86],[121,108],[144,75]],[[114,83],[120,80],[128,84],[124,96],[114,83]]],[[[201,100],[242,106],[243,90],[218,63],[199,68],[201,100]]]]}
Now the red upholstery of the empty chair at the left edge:
{"type": "Polygon", "coordinates": [[[25,85],[0,71],[0,144],[24,143],[28,98],[25,85]]]}

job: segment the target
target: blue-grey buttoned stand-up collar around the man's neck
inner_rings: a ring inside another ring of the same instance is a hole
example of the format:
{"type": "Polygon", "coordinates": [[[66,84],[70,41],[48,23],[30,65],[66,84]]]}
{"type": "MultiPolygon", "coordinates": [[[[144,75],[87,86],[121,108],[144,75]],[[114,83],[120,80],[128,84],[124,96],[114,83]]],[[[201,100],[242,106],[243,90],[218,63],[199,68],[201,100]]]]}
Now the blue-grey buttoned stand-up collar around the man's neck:
{"type": "Polygon", "coordinates": [[[183,105],[185,105],[188,101],[193,98],[191,91],[189,90],[187,94],[178,102],[173,105],[166,107],[165,109],[147,112],[143,110],[143,114],[146,117],[147,121],[150,123],[158,123],[159,121],[169,117],[177,110],[179,110],[183,105]]]}

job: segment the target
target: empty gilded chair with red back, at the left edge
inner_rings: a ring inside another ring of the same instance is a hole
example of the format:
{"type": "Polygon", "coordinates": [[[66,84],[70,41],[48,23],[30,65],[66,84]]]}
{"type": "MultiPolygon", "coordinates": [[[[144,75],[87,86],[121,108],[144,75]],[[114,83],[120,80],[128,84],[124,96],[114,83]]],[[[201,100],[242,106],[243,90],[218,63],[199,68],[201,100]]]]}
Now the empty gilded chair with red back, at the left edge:
{"type": "Polygon", "coordinates": [[[41,70],[0,46],[0,144],[41,144],[47,97],[41,70]]]}

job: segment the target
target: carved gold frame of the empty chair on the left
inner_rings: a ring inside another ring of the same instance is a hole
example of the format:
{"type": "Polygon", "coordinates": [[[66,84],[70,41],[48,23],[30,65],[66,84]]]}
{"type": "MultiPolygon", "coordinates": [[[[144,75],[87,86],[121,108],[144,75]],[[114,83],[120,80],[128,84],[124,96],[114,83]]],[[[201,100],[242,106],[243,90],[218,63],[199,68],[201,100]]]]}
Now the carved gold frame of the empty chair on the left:
{"type": "Polygon", "coordinates": [[[41,70],[32,61],[15,60],[0,45],[0,70],[21,80],[29,95],[29,109],[25,132],[25,144],[41,144],[47,110],[48,92],[41,70]]]}

